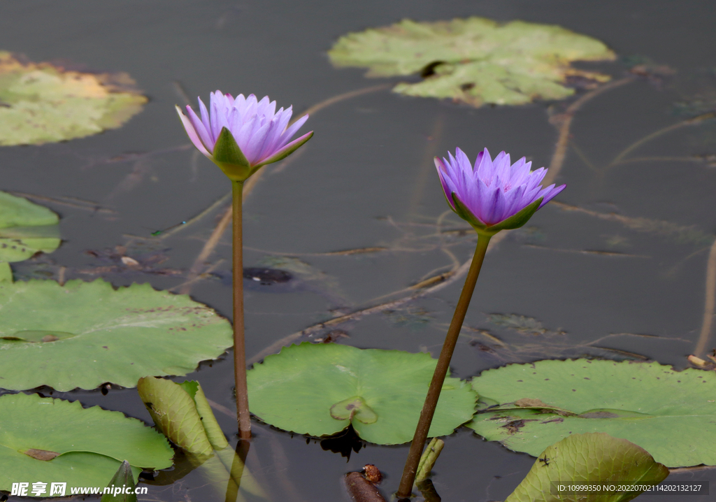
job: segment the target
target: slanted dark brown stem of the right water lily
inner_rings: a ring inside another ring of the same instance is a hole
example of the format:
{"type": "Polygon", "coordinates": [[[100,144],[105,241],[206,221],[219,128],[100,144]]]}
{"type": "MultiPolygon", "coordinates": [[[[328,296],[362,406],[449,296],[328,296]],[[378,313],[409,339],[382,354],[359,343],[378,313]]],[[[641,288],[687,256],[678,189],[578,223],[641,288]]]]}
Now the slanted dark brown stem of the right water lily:
{"type": "Polygon", "coordinates": [[[410,444],[410,452],[407,455],[402,478],[400,478],[400,487],[397,491],[397,498],[399,500],[410,498],[410,494],[412,493],[412,485],[415,483],[415,473],[417,471],[417,465],[420,462],[422,448],[425,446],[427,431],[430,430],[432,415],[435,414],[435,405],[437,405],[437,399],[440,397],[442,382],[445,381],[445,376],[448,375],[448,370],[450,369],[450,359],[453,358],[455,345],[458,344],[460,329],[463,327],[465,314],[468,312],[470,299],[473,297],[475,284],[478,281],[480,269],[483,266],[483,259],[485,259],[485,253],[488,250],[488,243],[490,243],[490,236],[483,236],[483,234],[478,233],[478,246],[475,248],[473,263],[470,264],[470,271],[468,271],[468,277],[465,279],[463,292],[460,293],[458,306],[455,307],[453,322],[450,322],[448,334],[445,335],[445,343],[442,344],[442,351],[440,352],[440,357],[437,359],[435,373],[432,374],[432,381],[430,382],[430,388],[427,390],[425,404],[422,405],[420,420],[418,420],[415,435],[410,444]]]}

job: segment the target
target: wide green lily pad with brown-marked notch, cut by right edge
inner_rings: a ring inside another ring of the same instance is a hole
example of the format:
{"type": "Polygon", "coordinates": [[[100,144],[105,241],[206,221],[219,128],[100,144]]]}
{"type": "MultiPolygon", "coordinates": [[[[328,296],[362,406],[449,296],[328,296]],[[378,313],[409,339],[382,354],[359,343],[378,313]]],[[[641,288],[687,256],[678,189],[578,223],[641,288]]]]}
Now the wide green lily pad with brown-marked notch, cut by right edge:
{"type": "Polygon", "coordinates": [[[677,372],[657,362],[508,365],[473,379],[481,404],[498,407],[478,411],[468,427],[530,455],[574,433],[601,432],[669,467],[715,465],[714,385],[714,372],[677,372]]]}

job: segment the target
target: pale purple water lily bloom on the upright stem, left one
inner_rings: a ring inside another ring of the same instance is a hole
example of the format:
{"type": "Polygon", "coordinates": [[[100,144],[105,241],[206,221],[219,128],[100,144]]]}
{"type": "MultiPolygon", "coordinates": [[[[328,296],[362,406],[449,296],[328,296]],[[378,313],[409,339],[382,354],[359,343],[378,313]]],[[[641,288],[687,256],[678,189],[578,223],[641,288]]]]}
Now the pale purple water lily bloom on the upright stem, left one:
{"type": "Polygon", "coordinates": [[[308,115],[289,127],[292,107],[276,112],[276,102],[269,102],[268,96],[258,101],[253,94],[234,99],[221,91],[212,92],[209,110],[199,98],[201,117],[190,106],[186,107],[188,116],[176,108],[194,146],[236,181],[285,158],[313,135],[313,131],[307,132],[291,141],[308,115]]]}

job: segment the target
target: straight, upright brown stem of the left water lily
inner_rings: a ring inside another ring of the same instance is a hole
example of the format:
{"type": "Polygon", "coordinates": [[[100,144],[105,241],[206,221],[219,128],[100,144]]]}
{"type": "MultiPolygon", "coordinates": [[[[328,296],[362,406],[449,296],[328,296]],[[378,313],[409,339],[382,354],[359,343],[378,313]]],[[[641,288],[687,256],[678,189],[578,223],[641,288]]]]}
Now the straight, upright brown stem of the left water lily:
{"type": "Polygon", "coordinates": [[[246,347],[243,343],[243,242],[241,213],[243,181],[231,181],[233,194],[233,372],[236,378],[236,416],[241,439],[251,438],[246,389],[246,347]]]}

